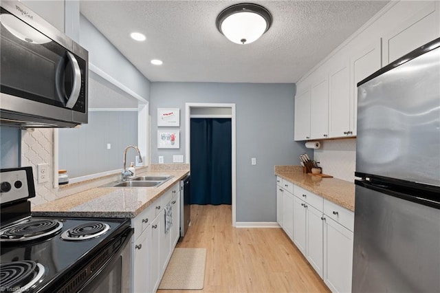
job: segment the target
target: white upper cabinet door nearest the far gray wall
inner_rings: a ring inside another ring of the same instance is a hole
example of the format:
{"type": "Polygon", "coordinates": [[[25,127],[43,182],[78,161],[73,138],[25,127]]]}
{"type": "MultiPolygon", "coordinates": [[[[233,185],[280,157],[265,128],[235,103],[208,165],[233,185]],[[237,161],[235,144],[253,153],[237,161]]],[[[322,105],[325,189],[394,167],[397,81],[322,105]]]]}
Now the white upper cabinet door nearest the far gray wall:
{"type": "Polygon", "coordinates": [[[310,139],[310,90],[295,96],[294,139],[310,139]]]}

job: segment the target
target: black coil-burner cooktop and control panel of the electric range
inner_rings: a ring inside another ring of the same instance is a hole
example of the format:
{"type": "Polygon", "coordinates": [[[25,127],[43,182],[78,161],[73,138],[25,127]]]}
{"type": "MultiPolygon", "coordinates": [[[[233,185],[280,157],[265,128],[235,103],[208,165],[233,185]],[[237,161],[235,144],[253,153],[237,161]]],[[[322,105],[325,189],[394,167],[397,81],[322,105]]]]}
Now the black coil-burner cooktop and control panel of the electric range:
{"type": "Polygon", "coordinates": [[[78,292],[126,246],[129,219],[31,217],[31,167],[1,169],[0,291],[78,292]]]}

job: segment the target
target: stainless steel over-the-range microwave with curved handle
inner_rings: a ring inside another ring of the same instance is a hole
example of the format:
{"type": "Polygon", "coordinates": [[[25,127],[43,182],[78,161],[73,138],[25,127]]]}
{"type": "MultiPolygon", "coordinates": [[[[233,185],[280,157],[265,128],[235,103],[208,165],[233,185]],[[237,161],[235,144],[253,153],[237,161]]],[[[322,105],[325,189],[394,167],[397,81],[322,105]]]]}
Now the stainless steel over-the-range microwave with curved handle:
{"type": "Polygon", "coordinates": [[[87,123],[89,53],[23,3],[0,8],[0,125],[87,123]]]}

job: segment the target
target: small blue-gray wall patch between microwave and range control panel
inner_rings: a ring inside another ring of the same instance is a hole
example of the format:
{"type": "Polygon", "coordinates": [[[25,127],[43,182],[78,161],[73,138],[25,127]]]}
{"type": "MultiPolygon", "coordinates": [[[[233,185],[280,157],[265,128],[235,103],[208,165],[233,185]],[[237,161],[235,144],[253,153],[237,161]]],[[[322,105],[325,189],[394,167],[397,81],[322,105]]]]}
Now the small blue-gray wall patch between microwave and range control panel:
{"type": "Polygon", "coordinates": [[[20,166],[20,142],[20,129],[0,127],[0,168],[20,166]]]}

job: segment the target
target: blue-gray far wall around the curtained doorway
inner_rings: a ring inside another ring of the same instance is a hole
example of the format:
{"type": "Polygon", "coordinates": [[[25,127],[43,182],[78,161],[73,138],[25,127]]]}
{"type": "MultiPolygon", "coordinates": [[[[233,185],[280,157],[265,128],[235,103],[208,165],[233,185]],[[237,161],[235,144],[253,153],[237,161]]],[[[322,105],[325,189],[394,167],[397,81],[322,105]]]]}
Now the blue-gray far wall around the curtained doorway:
{"type": "MultiPolygon", "coordinates": [[[[236,105],[236,221],[276,221],[274,165],[298,164],[307,151],[294,142],[294,84],[152,83],[151,161],[185,154],[185,103],[236,105]],[[180,108],[180,149],[157,149],[157,108],[180,108]],[[255,157],[256,166],[251,165],[255,157]]],[[[310,150],[307,151],[312,155],[310,150]]]]}

